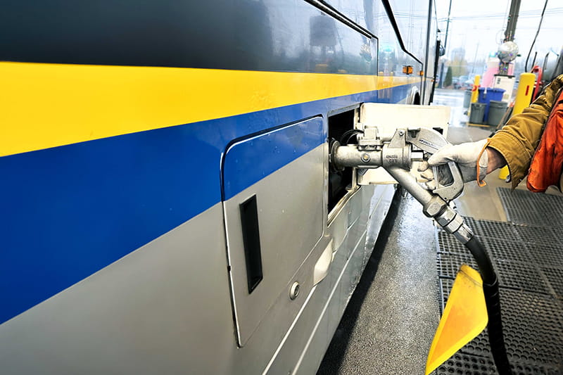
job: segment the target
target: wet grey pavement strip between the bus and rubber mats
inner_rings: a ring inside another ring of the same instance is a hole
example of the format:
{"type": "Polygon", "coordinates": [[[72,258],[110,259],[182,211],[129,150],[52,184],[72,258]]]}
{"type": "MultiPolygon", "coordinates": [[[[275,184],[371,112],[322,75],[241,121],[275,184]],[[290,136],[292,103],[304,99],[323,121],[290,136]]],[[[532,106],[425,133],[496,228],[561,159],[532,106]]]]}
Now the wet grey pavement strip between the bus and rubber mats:
{"type": "Polygon", "coordinates": [[[399,198],[317,374],[424,373],[440,317],[434,225],[399,198]]]}

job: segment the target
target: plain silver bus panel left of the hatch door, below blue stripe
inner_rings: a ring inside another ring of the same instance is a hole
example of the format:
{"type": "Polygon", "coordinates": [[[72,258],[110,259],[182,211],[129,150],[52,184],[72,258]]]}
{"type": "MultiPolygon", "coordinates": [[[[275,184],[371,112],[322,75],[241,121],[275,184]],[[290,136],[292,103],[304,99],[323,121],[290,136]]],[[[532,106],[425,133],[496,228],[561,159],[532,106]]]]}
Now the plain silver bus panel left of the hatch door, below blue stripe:
{"type": "Polygon", "coordinates": [[[222,222],[219,203],[2,324],[2,374],[231,371],[222,222]]]}

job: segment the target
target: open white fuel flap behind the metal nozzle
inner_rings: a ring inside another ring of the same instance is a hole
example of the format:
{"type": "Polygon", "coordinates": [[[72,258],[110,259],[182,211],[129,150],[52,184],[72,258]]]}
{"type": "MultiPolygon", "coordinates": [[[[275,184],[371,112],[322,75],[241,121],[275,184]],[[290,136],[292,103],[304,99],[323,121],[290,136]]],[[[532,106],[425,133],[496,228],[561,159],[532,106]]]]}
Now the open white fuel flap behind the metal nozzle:
{"type": "MultiPolygon", "coordinates": [[[[391,139],[396,129],[426,127],[434,129],[447,138],[450,123],[450,107],[410,106],[405,104],[363,103],[360,107],[360,122],[356,127],[362,132],[377,128],[381,139],[391,139]]],[[[418,162],[413,163],[412,174],[417,176],[418,162]]],[[[396,184],[383,168],[357,170],[358,185],[396,184]]]]}

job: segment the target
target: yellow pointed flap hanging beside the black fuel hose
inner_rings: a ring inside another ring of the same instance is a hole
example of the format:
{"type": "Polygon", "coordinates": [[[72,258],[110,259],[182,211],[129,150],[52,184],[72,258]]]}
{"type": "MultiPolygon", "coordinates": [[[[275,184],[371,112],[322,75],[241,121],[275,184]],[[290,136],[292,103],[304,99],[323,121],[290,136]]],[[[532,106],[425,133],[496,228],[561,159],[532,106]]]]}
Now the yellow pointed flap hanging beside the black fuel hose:
{"type": "Polygon", "coordinates": [[[430,346],[426,375],[472,341],[487,323],[481,275],[472,267],[462,265],[430,346]]]}

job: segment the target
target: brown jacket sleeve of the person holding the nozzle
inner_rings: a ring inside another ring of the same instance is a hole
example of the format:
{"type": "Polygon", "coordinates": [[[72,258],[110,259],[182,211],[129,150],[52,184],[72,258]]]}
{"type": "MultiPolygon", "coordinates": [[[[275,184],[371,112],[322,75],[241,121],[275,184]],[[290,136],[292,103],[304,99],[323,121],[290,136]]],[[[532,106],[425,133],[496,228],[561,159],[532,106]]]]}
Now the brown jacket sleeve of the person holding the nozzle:
{"type": "Polygon", "coordinates": [[[557,91],[563,86],[563,75],[555,78],[531,106],[514,115],[492,138],[489,147],[504,156],[510,176],[512,189],[516,188],[528,174],[531,158],[540,142],[545,121],[551,112],[557,91]]]}

